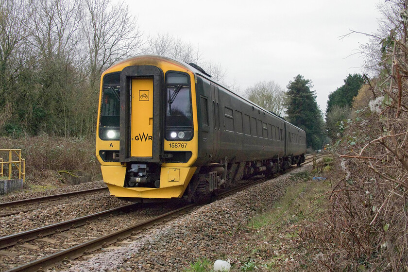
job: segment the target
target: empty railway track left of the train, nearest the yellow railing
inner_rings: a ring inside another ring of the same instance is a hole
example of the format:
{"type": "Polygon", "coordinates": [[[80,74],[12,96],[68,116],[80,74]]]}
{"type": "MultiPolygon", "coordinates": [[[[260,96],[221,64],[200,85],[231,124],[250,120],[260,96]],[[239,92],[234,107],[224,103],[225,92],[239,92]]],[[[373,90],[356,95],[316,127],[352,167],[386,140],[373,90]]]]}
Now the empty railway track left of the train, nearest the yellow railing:
{"type": "Polygon", "coordinates": [[[95,189],[87,189],[82,191],[0,203],[0,217],[10,216],[18,214],[20,212],[28,212],[35,209],[47,207],[49,206],[50,202],[53,202],[54,205],[58,205],[67,202],[83,200],[84,197],[88,197],[87,195],[89,194],[106,193],[107,190],[107,187],[99,187],[95,189]]]}

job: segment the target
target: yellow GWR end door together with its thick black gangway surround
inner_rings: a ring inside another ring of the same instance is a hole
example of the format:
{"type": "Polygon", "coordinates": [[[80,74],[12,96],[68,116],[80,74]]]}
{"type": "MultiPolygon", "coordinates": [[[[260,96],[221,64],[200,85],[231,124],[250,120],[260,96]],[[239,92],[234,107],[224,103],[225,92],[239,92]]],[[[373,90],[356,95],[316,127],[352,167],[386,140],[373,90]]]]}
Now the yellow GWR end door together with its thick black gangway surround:
{"type": "Polygon", "coordinates": [[[163,71],[149,65],[120,72],[120,162],[162,161],[163,79],[163,71]]]}

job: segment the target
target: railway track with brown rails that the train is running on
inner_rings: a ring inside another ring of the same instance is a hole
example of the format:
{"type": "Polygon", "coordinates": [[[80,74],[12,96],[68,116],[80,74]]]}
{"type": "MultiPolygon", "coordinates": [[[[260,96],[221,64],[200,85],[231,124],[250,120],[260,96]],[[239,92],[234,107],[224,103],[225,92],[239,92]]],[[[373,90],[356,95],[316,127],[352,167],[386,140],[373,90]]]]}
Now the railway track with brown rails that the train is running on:
{"type": "MultiPolygon", "coordinates": [[[[289,172],[290,170],[293,170],[295,168],[296,167],[293,167],[293,168],[285,171],[284,173],[289,172]]],[[[281,174],[283,174],[283,173],[276,174],[273,177],[279,176],[281,174]]],[[[237,191],[242,190],[243,188],[253,186],[253,185],[257,184],[257,183],[263,182],[263,181],[268,180],[268,179],[270,179],[270,178],[263,177],[263,178],[254,180],[254,181],[252,181],[250,183],[246,183],[244,185],[235,187],[235,188],[233,188],[231,190],[221,192],[221,193],[218,194],[218,196],[215,199],[223,198],[228,194],[235,193],[237,191]]],[[[44,238],[44,237],[47,236],[47,235],[59,235],[59,236],[63,236],[63,237],[64,236],[68,237],[68,236],[73,235],[73,234],[62,233],[64,231],[66,231],[66,230],[72,230],[72,231],[75,232],[76,229],[77,230],[79,229],[78,233],[81,233],[81,232],[83,233],[84,231],[86,232],[86,230],[83,230],[83,229],[81,229],[79,227],[84,226],[84,225],[89,225],[88,224],[89,222],[91,222],[91,221],[95,222],[97,220],[102,219],[102,217],[106,218],[106,217],[112,216],[112,214],[114,214],[114,213],[124,212],[126,209],[131,210],[132,208],[135,208],[136,205],[137,204],[130,204],[130,205],[126,205],[126,206],[123,206],[123,207],[116,208],[116,209],[112,209],[110,211],[104,211],[104,212],[102,212],[103,214],[99,213],[99,215],[95,214],[95,215],[91,215],[91,216],[88,216],[88,217],[83,217],[83,218],[79,218],[79,219],[75,219],[75,220],[71,220],[71,221],[67,221],[67,222],[61,222],[61,223],[55,224],[53,226],[49,226],[47,228],[44,227],[44,228],[35,229],[35,230],[28,231],[28,232],[24,232],[24,233],[4,237],[4,238],[0,239],[0,244],[4,243],[4,245],[5,245],[4,247],[1,247],[1,248],[6,248],[7,244],[9,244],[8,247],[10,247],[10,246],[26,246],[28,248],[30,248],[30,247],[34,248],[34,247],[36,247],[35,245],[30,246],[30,245],[27,245],[27,244],[24,243],[25,241],[33,240],[33,239],[38,239],[38,240],[41,240],[42,242],[47,242],[47,240],[48,240],[49,243],[52,243],[52,239],[47,239],[47,238],[44,238]],[[74,227],[74,228],[72,228],[71,226],[74,227]],[[16,242],[16,240],[18,242],[16,242]]],[[[32,260],[31,262],[28,262],[26,264],[23,264],[23,265],[20,265],[18,267],[7,270],[7,272],[43,271],[44,269],[51,268],[51,267],[53,267],[53,266],[55,266],[58,263],[61,263],[63,261],[68,261],[68,260],[71,260],[71,259],[75,259],[75,258],[78,258],[78,257],[80,257],[82,255],[88,255],[88,254],[90,254],[91,252],[93,252],[95,250],[101,249],[102,247],[106,248],[106,247],[108,247],[109,245],[111,245],[113,243],[121,242],[124,238],[131,238],[132,239],[132,237],[135,236],[137,233],[140,233],[140,232],[142,232],[142,231],[144,231],[146,229],[149,229],[153,225],[160,224],[161,222],[164,222],[164,221],[169,221],[172,218],[175,218],[175,217],[179,216],[180,214],[187,213],[192,208],[194,208],[196,205],[197,204],[187,204],[187,205],[184,205],[184,206],[182,206],[180,208],[177,208],[175,210],[172,210],[172,211],[169,211],[167,213],[161,214],[159,216],[155,216],[153,218],[147,219],[145,221],[141,221],[141,222],[139,221],[139,222],[137,222],[137,223],[135,223],[133,225],[124,227],[124,228],[122,228],[122,229],[120,229],[118,231],[111,232],[111,233],[108,233],[106,235],[102,235],[100,237],[95,237],[95,238],[90,239],[90,240],[88,240],[86,242],[79,243],[79,244],[77,244],[75,246],[71,246],[71,247],[63,249],[63,250],[61,250],[60,248],[56,249],[57,252],[55,252],[55,253],[52,253],[50,255],[47,255],[47,256],[39,258],[39,259],[32,260]]],[[[111,219],[110,221],[115,221],[115,220],[111,219]]],[[[5,252],[7,252],[7,250],[2,250],[2,251],[3,251],[3,254],[5,252]]],[[[1,254],[1,251],[0,251],[0,254],[1,254]]],[[[4,268],[5,268],[5,265],[3,266],[3,269],[4,268]]],[[[4,271],[3,269],[1,269],[1,271],[4,271]]]]}

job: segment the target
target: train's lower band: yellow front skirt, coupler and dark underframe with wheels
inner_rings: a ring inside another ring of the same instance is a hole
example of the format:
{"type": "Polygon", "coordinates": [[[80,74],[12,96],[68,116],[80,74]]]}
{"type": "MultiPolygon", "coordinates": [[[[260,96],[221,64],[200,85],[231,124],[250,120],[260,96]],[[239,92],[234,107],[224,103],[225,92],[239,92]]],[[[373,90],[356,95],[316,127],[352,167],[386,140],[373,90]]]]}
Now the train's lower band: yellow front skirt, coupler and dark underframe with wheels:
{"type": "MultiPolygon", "coordinates": [[[[304,154],[268,160],[229,162],[224,158],[220,163],[202,167],[167,168],[158,164],[129,164],[122,167],[120,182],[104,176],[111,194],[126,199],[137,198],[184,198],[188,202],[200,202],[220,189],[232,187],[241,179],[256,175],[272,176],[292,165],[305,162],[304,154]],[[126,170],[125,170],[126,169],[126,170]],[[124,172],[125,170],[125,172],[124,172]]],[[[106,172],[102,168],[102,174],[106,172]]]]}

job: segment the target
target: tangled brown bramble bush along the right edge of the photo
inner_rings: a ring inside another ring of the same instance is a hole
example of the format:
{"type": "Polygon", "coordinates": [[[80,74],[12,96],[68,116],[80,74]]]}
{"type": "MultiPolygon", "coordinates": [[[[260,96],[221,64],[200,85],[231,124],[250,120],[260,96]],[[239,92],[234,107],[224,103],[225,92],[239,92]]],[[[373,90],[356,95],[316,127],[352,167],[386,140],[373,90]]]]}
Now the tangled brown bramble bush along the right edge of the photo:
{"type": "Polygon", "coordinates": [[[408,271],[408,6],[387,5],[389,35],[370,51],[378,76],[340,124],[343,174],[332,176],[327,212],[300,235],[302,270],[408,271]]]}

